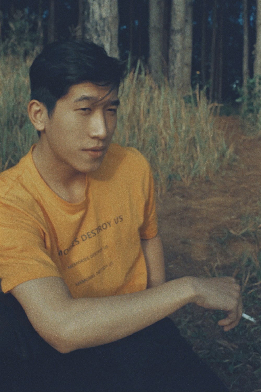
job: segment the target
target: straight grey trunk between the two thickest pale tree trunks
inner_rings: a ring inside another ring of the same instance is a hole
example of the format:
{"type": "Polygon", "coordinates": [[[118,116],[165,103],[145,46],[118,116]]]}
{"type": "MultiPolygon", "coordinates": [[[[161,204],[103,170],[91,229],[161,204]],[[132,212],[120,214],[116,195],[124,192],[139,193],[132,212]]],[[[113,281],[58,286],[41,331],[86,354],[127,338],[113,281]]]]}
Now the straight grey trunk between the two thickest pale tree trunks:
{"type": "Polygon", "coordinates": [[[156,83],[162,78],[164,0],[149,0],[149,66],[156,83]]]}

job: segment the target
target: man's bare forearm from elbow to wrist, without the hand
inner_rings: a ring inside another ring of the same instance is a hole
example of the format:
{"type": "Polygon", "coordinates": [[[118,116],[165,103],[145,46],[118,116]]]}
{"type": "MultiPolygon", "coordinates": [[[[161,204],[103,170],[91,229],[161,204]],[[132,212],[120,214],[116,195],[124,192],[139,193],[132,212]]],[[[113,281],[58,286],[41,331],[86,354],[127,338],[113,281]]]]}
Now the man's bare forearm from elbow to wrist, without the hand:
{"type": "Polygon", "coordinates": [[[124,338],[180,309],[195,295],[189,279],[120,296],[73,299],[63,328],[65,352],[124,338]]]}

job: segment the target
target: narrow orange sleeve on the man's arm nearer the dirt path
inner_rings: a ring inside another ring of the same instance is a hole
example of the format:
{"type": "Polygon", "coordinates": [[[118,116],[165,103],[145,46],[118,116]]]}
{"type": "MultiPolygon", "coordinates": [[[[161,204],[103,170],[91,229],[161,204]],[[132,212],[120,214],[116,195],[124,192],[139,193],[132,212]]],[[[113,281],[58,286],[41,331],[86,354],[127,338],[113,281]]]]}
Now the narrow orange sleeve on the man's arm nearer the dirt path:
{"type": "Polygon", "coordinates": [[[148,162],[146,163],[147,171],[144,181],[144,194],[146,196],[146,202],[144,205],[144,220],[142,226],[140,227],[140,238],[142,240],[149,240],[155,237],[158,233],[153,174],[148,162]]]}

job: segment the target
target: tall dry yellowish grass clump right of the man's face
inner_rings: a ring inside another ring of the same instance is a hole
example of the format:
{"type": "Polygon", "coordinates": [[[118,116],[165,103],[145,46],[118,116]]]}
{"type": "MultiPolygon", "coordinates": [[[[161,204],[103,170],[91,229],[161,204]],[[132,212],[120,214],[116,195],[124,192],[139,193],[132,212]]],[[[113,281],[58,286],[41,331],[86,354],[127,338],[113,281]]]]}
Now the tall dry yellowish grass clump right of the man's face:
{"type": "Polygon", "coordinates": [[[216,106],[204,93],[191,93],[185,103],[167,82],[155,85],[138,64],[125,79],[120,98],[114,141],[136,147],[148,158],[159,191],[165,192],[173,178],[207,178],[232,159],[216,106]]]}

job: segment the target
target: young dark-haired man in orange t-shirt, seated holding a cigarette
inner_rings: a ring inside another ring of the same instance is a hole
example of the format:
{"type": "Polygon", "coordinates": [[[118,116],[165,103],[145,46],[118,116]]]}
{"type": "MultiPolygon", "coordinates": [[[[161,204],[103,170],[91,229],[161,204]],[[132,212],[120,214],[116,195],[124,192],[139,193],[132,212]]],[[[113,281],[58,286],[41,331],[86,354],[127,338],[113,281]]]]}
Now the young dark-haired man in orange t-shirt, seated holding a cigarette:
{"type": "Polygon", "coordinates": [[[89,42],[47,45],[31,70],[39,141],[0,175],[5,392],[222,392],[169,314],[241,318],[233,278],[165,281],[153,176],[111,144],[121,62],[89,42]]]}

